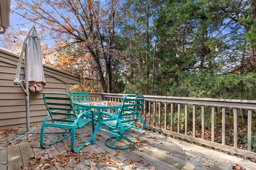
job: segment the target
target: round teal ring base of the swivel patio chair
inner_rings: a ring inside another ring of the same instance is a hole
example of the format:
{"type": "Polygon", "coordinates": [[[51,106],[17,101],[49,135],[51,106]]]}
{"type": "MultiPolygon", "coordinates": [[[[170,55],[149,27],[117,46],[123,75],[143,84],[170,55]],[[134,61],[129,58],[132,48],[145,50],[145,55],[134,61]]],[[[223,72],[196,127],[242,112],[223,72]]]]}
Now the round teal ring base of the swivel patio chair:
{"type": "Polygon", "coordinates": [[[135,145],[135,142],[132,140],[132,139],[129,139],[128,137],[124,137],[124,136],[121,136],[121,137],[110,137],[108,139],[106,139],[105,141],[105,145],[111,149],[116,149],[116,150],[125,150],[125,149],[129,149],[131,147],[133,147],[135,145]],[[116,142],[119,140],[119,139],[124,139],[125,141],[127,141],[129,143],[129,145],[126,143],[126,145],[128,145],[127,147],[121,147],[121,146],[114,146],[116,144],[116,142]],[[114,142],[112,142],[112,144],[108,145],[108,142],[109,141],[112,141],[112,139],[115,139],[114,142]]]}

